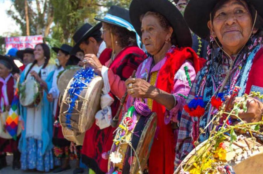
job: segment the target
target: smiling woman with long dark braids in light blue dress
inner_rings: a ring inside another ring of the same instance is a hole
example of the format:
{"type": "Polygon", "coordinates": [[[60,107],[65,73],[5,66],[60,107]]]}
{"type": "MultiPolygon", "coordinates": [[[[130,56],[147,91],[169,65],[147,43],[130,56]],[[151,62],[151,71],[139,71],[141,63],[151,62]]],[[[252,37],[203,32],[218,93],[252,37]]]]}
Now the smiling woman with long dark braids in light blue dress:
{"type": "MultiPolygon", "coordinates": [[[[35,61],[27,65],[20,77],[20,84],[27,78],[35,78],[43,88],[50,90],[55,65],[49,63],[50,49],[47,44],[37,44],[34,49],[35,61]]],[[[32,94],[34,95],[34,94],[32,94]]],[[[24,121],[24,130],[19,141],[21,169],[36,169],[48,172],[53,169],[52,154],[52,104],[47,93],[38,106],[29,108],[20,106],[20,115],[24,121]]]]}

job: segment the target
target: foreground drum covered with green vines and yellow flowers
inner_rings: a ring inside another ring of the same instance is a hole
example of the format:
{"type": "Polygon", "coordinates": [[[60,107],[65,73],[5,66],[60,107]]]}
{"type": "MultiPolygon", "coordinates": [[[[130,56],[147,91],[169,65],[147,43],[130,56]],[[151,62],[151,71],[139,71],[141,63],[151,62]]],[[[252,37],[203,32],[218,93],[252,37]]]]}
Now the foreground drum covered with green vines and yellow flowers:
{"type": "MultiPolygon", "coordinates": [[[[240,88],[229,91],[230,101],[234,101],[240,88]]],[[[227,94],[227,95],[228,95],[227,94]]],[[[234,107],[229,110],[229,103],[225,103],[227,95],[222,93],[211,99],[211,121],[204,129],[199,130],[199,137],[211,127],[210,136],[196,146],[181,164],[175,174],[199,173],[262,173],[263,171],[263,120],[246,123],[238,115],[242,109],[247,112],[248,97],[262,99],[260,92],[243,95],[234,107]],[[231,117],[238,119],[232,119],[231,117]],[[240,124],[233,124],[239,122],[240,124]]],[[[197,139],[199,139],[199,137],[197,139]]]]}

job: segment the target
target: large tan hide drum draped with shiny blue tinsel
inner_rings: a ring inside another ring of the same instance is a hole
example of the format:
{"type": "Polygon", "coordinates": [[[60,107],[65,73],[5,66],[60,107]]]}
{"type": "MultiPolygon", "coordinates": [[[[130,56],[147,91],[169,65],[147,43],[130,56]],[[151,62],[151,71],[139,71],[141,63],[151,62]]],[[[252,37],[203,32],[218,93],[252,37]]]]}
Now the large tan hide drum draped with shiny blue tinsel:
{"type": "Polygon", "coordinates": [[[59,122],[66,139],[83,144],[85,131],[95,121],[100,109],[102,77],[92,68],[81,68],[66,87],[59,111],[59,122]]]}

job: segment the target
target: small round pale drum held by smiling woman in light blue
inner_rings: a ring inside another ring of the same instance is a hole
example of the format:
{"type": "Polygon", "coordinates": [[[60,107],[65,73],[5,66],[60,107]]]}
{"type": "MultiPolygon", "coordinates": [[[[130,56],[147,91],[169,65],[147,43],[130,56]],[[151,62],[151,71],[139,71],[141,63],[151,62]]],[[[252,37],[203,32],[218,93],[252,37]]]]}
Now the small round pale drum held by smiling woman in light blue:
{"type": "MultiPolygon", "coordinates": [[[[40,103],[40,85],[36,80],[27,78],[21,86],[24,86],[24,97],[22,94],[19,95],[19,102],[22,106],[28,108],[34,108],[40,103]],[[38,96],[36,96],[38,94],[38,96]]],[[[20,87],[23,88],[23,87],[20,87]]]]}

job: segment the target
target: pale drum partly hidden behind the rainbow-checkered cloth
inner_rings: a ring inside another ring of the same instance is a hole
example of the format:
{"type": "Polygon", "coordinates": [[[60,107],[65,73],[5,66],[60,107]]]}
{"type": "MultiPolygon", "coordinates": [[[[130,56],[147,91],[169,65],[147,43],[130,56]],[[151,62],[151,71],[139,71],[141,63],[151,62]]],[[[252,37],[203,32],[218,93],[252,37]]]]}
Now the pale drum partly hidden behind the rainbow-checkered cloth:
{"type": "MultiPolygon", "coordinates": [[[[0,137],[4,139],[12,139],[11,135],[7,131],[4,131],[6,118],[8,117],[8,111],[0,113],[0,117],[0,137]]],[[[21,131],[21,122],[18,121],[17,136],[20,135],[21,131]]]]}

